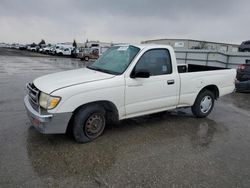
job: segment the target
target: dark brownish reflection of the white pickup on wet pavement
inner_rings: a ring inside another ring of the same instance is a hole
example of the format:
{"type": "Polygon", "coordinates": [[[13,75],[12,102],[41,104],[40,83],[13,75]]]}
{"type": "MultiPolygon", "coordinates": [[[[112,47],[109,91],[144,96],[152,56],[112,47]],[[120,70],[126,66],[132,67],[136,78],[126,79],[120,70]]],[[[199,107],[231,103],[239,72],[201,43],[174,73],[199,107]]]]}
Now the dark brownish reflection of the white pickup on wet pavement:
{"type": "Polygon", "coordinates": [[[42,135],[31,127],[27,151],[40,177],[89,178],[105,174],[119,163],[117,158],[134,147],[150,150],[152,145],[165,147],[174,140],[191,149],[208,149],[216,131],[217,124],[207,118],[196,119],[179,111],[164,112],[107,126],[103,136],[87,144],[77,144],[66,135],[42,135]],[[188,138],[189,142],[181,143],[180,137],[188,138]]]}

